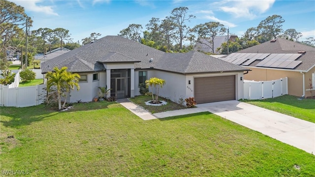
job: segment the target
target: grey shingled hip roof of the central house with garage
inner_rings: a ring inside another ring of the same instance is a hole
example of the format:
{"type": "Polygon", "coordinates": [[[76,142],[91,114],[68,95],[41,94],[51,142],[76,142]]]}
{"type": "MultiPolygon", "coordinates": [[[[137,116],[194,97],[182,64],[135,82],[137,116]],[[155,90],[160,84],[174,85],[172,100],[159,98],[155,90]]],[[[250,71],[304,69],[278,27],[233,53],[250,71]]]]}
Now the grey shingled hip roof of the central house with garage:
{"type": "Polygon", "coordinates": [[[165,53],[122,36],[102,37],[43,62],[41,68],[43,73],[55,66],[67,66],[69,72],[98,72],[105,70],[102,63],[113,62],[133,62],[136,69],[154,68],[182,74],[249,70],[196,51],[165,53]]]}

